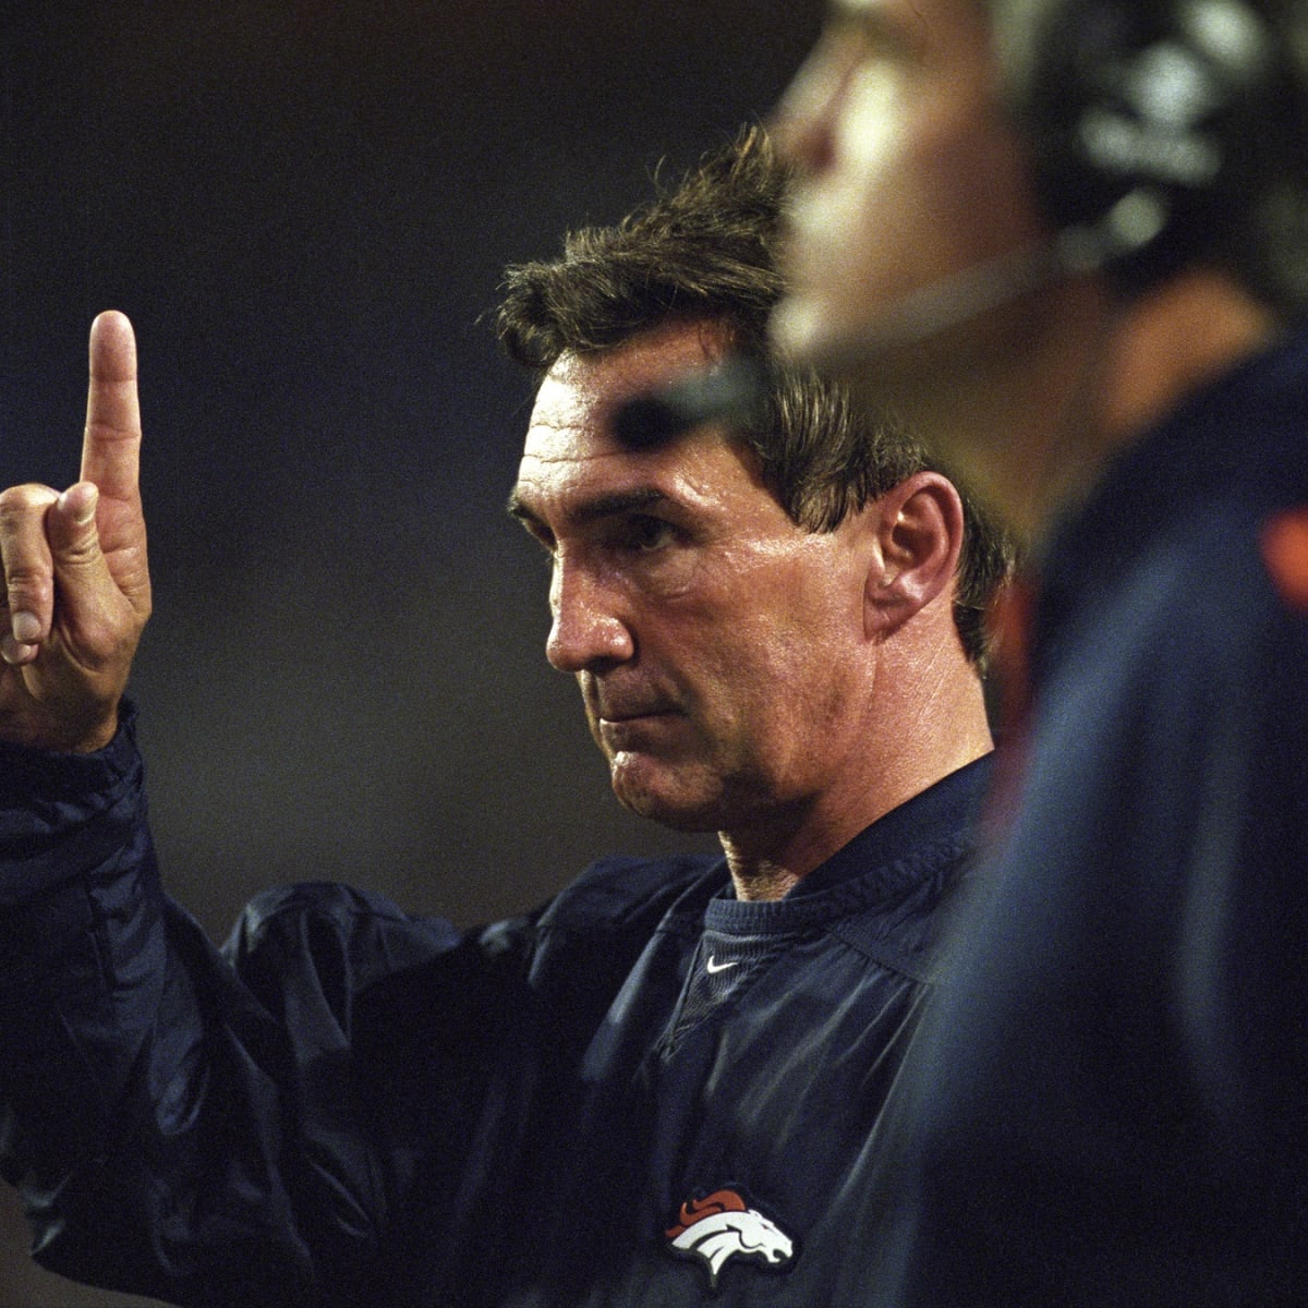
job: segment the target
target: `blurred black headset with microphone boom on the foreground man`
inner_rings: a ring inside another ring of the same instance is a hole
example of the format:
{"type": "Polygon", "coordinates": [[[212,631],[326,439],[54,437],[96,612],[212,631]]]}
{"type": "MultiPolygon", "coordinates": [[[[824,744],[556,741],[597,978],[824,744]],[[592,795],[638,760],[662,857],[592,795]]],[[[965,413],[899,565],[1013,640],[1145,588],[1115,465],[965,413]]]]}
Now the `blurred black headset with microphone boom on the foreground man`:
{"type": "MultiPolygon", "coordinates": [[[[1308,69],[1267,16],[1279,7],[1308,47],[1308,0],[986,4],[1053,237],[906,296],[848,343],[850,361],[1078,271],[1130,296],[1209,259],[1271,305],[1308,307],[1308,69]]],[[[746,425],[760,394],[757,369],[732,360],[617,425],[642,445],[712,419],[746,425]]]]}

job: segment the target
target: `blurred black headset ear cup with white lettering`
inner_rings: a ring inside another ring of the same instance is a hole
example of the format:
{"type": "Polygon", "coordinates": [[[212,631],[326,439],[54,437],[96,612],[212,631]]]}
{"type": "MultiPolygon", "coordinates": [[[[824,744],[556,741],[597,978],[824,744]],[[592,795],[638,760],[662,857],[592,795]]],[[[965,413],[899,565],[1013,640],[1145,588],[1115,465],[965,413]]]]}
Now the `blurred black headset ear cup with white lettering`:
{"type": "Polygon", "coordinates": [[[1267,26],[1244,0],[1056,0],[1036,21],[1010,92],[1041,204],[1063,230],[1148,194],[1167,221],[1113,271],[1156,280],[1250,201],[1260,136],[1287,112],[1269,103],[1267,26]]]}

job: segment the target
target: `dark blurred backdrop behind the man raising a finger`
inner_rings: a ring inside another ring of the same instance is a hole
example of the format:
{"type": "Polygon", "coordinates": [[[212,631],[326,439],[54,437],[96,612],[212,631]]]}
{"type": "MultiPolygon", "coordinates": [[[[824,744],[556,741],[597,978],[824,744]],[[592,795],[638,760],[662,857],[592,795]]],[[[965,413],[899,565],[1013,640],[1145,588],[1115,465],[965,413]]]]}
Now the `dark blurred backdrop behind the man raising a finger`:
{"type": "MultiPolygon", "coordinates": [[[[608,793],[508,521],[530,387],[479,318],[738,124],[818,0],[0,8],[0,485],[77,476],[85,337],[139,335],[156,616],[136,663],[169,888],[472,923],[684,848],[608,793]]],[[[3,997],[0,997],[0,1002],[3,997]]],[[[0,1308],[35,1273],[0,1186],[0,1308]]]]}

